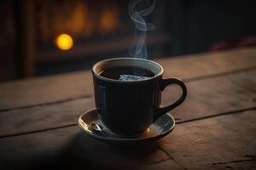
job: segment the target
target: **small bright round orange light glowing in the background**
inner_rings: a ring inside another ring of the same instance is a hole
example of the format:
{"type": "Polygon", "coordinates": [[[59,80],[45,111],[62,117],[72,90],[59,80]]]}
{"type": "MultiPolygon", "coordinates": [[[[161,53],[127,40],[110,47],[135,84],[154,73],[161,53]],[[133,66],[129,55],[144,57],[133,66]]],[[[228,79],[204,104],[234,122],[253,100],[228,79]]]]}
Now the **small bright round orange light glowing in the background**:
{"type": "Polygon", "coordinates": [[[73,39],[67,34],[61,34],[56,37],[56,46],[62,50],[68,50],[73,47],[73,39]]]}

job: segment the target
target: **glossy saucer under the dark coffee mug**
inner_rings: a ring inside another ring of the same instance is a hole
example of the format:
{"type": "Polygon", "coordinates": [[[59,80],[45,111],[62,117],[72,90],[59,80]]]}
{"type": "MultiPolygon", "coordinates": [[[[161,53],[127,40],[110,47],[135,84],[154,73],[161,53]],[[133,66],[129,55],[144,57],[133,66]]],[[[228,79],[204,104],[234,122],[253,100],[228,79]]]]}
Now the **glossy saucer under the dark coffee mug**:
{"type": "Polygon", "coordinates": [[[98,116],[96,109],[84,112],[79,117],[78,124],[83,132],[90,137],[99,139],[102,142],[114,144],[137,144],[140,142],[160,139],[165,137],[168,133],[171,133],[173,128],[175,127],[174,118],[170,114],[166,113],[165,115],[160,116],[160,118],[156,122],[152,123],[150,127],[148,127],[148,129],[141,135],[133,138],[119,137],[118,135],[115,135],[114,133],[109,131],[108,128],[104,126],[100,119],[100,116],[98,116]],[[92,122],[102,125],[104,133],[106,135],[91,131],[89,126],[92,122]]]}

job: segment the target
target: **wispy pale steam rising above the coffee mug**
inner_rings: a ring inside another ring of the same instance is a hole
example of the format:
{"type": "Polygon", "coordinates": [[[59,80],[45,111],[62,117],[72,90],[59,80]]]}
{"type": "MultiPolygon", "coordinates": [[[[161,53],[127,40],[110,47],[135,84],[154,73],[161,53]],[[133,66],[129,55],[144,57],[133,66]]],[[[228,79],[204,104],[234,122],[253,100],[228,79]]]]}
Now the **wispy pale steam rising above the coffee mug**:
{"type": "Polygon", "coordinates": [[[132,50],[131,55],[138,58],[147,58],[148,50],[145,45],[145,40],[147,37],[147,31],[154,30],[153,23],[146,23],[143,17],[151,14],[154,10],[155,0],[131,0],[129,3],[129,14],[131,20],[133,20],[136,26],[136,37],[139,35],[137,46],[132,50]],[[138,9],[140,3],[150,3],[148,8],[138,9]]]}

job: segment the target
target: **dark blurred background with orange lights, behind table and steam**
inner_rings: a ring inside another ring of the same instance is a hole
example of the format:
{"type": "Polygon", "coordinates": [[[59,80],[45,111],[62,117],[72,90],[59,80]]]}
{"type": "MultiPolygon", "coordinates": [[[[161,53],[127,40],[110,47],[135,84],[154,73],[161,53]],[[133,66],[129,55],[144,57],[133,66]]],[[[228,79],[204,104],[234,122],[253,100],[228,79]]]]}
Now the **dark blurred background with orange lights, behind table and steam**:
{"type": "MultiPolygon", "coordinates": [[[[122,0],[0,1],[0,82],[90,69],[131,56],[135,26],[122,0]]],[[[148,58],[256,45],[253,1],[158,0],[148,58]]],[[[256,56],[255,56],[256,57],[256,56]]]]}

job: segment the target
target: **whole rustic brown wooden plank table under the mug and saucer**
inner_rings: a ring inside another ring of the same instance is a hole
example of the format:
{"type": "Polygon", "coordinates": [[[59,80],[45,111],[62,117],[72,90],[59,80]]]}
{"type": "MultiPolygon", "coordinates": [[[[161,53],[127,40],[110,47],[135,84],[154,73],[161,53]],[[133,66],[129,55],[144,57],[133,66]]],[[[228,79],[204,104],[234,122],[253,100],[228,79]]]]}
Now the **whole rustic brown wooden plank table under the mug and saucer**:
{"type": "Polygon", "coordinates": [[[157,61],[186,82],[188,98],[171,111],[172,133],[131,148],[77,126],[94,107],[90,71],[1,83],[0,169],[255,169],[256,48],[157,61]]]}

